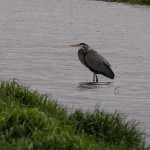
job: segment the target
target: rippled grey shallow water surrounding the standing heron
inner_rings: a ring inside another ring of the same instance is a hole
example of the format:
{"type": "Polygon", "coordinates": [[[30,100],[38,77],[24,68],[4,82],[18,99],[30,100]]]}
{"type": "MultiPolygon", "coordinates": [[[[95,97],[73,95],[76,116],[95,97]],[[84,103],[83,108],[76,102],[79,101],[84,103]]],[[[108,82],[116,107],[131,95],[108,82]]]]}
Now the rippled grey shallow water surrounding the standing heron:
{"type": "Polygon", "coordinates": [[[1,0],[0,35],[0,80],[18,78],[69,108],[118,109],[150,134],[150,7],[1,0]],[[115,80],[89,83],[93,74],[69,47],[80,42],[110,62],[115,80]]]}

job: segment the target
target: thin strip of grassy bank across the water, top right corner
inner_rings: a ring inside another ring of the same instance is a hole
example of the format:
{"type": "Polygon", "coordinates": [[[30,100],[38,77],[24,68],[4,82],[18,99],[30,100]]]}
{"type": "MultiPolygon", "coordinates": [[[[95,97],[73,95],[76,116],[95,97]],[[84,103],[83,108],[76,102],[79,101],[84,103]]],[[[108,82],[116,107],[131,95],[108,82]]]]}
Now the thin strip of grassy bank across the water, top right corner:
{"type": "MultiPolygon", "coordinates": [[[[99,1],[99,0],[97,0],[99,1]]],[[[102,0],[106,2],[122,2],[130,4],[150,5],[150,0],[102,0]]]]}

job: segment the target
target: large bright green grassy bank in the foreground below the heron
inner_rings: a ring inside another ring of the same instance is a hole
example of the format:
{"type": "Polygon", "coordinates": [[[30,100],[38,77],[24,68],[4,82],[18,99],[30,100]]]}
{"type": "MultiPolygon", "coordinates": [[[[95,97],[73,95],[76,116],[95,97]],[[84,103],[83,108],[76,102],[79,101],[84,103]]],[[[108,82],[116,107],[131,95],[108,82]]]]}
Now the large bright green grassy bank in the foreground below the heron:
{"type": "Polygon", "coordinates": [[[1,150],[144,150],[135,121],[67,109],[16,81],[0,83],[1,150]]]}

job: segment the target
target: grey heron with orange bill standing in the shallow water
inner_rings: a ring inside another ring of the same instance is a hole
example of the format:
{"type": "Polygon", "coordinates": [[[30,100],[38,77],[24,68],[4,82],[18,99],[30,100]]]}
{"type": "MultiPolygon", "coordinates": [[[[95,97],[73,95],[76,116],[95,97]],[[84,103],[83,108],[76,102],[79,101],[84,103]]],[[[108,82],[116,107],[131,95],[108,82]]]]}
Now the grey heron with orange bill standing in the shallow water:
{"type": "Polygon", "coordinates": [[[109,62],[98,52],[90,48],[85,43],[75,44],[71,46],[80,47],[78,57],[81,63],[89,68],[93,73],[93,82],[98,82],[97,74],[102,74],[110,79],[114,79],[115,74],[111,70],[109,62]]]}

